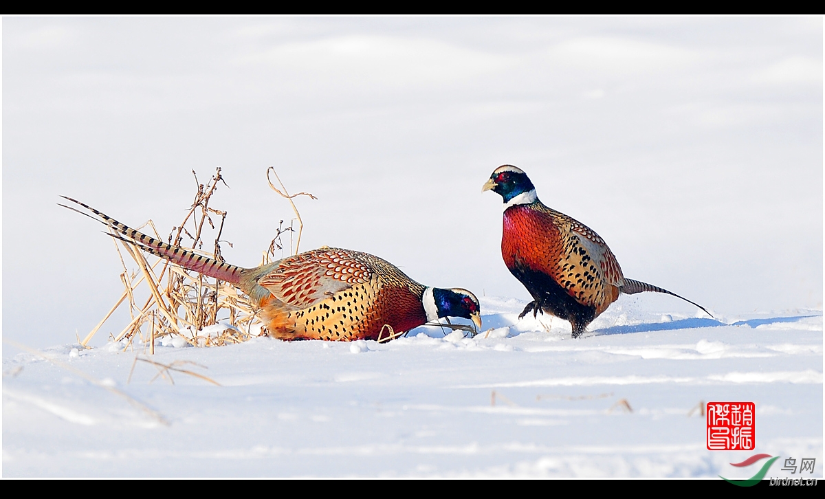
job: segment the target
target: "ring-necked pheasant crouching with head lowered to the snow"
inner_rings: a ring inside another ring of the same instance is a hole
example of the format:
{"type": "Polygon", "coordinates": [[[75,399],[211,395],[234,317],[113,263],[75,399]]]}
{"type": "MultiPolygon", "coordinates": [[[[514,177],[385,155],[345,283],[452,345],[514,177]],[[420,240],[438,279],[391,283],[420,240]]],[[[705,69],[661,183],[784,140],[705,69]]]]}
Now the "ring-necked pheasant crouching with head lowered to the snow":
{"type": "Polygon", "coordinates": [[[368,253],[323,247],[247,269],[150,238],[62,197],[88,209],[145,252],[237,286],[262,308],[267,333],[281,340],[397,337],[444,317],[468,318],[481,327],[479,299],[468,290],[418,284],[389,261],[368,253]]]}

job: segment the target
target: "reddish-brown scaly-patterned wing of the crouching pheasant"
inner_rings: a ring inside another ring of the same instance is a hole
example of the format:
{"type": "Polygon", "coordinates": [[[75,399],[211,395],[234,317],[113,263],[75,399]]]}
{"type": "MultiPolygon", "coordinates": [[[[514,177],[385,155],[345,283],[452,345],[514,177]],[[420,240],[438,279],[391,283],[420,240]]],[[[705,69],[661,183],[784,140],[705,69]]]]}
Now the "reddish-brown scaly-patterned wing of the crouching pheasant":
{"type": "Polygon", "coordinates": [[[356,255],[324,248],[285,258],[258,279],[276,299],[297,308],[309,308],[332,294],[370,281],[372,272],[356,255]]]}

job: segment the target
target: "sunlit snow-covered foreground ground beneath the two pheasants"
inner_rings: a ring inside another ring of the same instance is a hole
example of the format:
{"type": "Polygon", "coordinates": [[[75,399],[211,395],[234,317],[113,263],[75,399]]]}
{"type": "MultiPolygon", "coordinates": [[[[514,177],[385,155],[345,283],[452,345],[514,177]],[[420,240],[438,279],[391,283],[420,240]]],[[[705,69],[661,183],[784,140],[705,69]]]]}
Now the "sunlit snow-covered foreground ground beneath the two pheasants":
{"type": "Polygon", "coordinates": [[[759,465],[730,463],[759,452],[815,458],[804,476],[822,477],[822,313],[714,320],[655,296],[623,297],[577,340],[486,297],[493,330],[472,339],[158,341],[154,361],[220,386],[158,377],[135,362],[146,346],[18,354],[3,476],[749,478],[759,465]],[[756,402],[756,449],[706,450],[702,401],[756,402]]]}

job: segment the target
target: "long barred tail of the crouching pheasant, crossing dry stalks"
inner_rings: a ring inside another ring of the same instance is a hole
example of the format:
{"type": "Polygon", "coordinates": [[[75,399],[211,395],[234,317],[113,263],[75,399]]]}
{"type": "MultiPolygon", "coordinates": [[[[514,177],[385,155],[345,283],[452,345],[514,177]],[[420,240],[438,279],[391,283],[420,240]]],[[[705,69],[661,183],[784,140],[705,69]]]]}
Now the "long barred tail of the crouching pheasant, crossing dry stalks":
{"type": "Polygon", "coordinates": [[[217,261],[214,258],[204,257],[203,255],[199,255],[196,252],[191,252],[181,247],[172,246],[171,244],[167,244],[166,242],[158,241],[155,238],[151,238],[144,233],[140,233],[134,230],[134,228],[130,228],[128,225],[121,224],[117,220],[111,218],[109,215],[104,214],[98,211],[97,209],[92,208],[89,205],[84,205],[78,200],[73,200],[72,198],[66,196],[61,197],[63,197],[66,200],[72,201],[73,203],[77,203],[78,205],[81,205],[83,208],[86,208],[93,214],[96,214],[98,217],[100,217],[100,219],[95,219],[94,217],[92,217],[92,215],[83,213],[82,211],[74,209],[70,206],[60,206],[72,209],[73,211],[77,211],[80,214],[85,214],[88,217],[97,220],[101,224],[104,224],[125,236],[120,237],[118,235],[111,234],[111,236],[114,238],[118,238],[125,242],[135,244],[145,252],[152,253],[156,257],[165,258],[168,261],[172,261],[172,263],[175,263],[190,271],[200,272],[201,274],[209,275],[210,277],[214,277],[215,279],[225,280],[226,282],[229,282],[233,285],[241,284],[241,276],[243,274],[243,271],[246,271],[246,269],[244,269],[243,267],[234,266],[222,261],[217,261]]]}

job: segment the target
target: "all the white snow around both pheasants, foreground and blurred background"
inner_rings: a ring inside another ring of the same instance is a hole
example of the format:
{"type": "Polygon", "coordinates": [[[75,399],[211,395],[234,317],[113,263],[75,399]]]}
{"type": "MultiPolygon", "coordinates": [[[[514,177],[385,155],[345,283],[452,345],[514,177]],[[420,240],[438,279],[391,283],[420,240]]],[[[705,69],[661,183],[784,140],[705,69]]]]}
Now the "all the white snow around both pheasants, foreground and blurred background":
{"type": "Polygon", "coordinates": [[[3,476],[748,478],[759,464],[706,450],[697,411],[734,400],[756,403],[755,452],[816,458],[822,476],[821,16],[0,27],[3,476]],[[645,293],[576,340],[567,322],[518,320],[529,294],[501,260],[502,202],[480,192],[502,164],[599,233],[627,277],[714,318],[645,293]],[[148,355],[107,342],[130,321],[120,308],[91,350],[73,343],[123,268],[60,195],[165,235],[191,172],[222,167],[222,252],[255,266],[295,222],[270,166],[318,197],[296,198],[302,249],[472,290],[484,331],[161,337],[148,355]]]}

